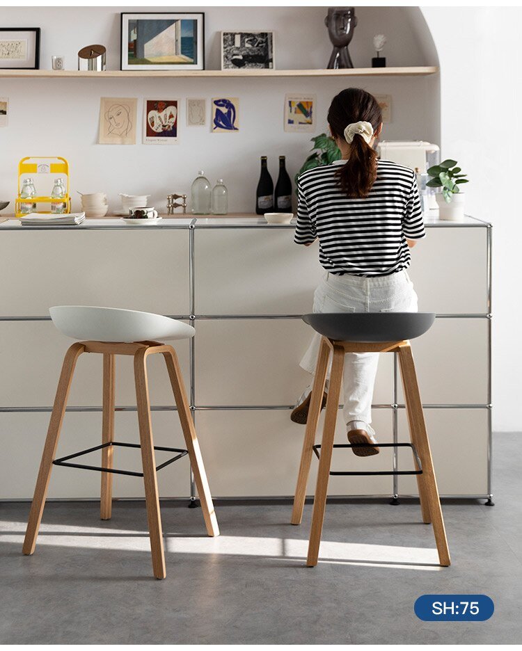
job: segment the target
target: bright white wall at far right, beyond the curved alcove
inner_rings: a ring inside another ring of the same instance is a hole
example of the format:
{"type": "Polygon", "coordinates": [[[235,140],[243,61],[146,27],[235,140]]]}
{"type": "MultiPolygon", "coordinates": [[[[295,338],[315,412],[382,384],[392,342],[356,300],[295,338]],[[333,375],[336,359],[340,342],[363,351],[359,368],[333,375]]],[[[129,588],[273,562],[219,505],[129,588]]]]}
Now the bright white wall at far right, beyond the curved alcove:
{"type": "MultiPolygon", "coordinates": [[[[472,182],[467,211],[493,223],[493,428],[522,430],[519,156],[521,8],[422,8],[441,65],[441,144],[472,182]]],[[[466,250],[461,252],[466,264],[466,250]]]]}

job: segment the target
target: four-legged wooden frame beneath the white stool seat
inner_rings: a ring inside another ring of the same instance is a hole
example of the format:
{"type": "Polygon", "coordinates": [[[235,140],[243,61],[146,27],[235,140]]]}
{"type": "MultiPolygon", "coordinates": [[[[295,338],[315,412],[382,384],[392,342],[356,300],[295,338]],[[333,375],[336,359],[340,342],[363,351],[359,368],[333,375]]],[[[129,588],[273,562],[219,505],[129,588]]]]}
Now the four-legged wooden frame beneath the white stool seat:
{"type": "MultiPolygon", "coordinates": [[[[79,341],[72,344],[65,353],[56,397],[47,430],[47,438],[42,453],[40,471],[29,513],[24,540],[24,554],[33,554],[42,513],[47,497],[47,488],[51,470],[58,447],[63,416],[67,406],[74,367],[82,353],[102,353],[103,355],[103,417],[102,443],[109,444],[114,439],[114,388],[115,388],[115,356],[134,355],[134,380],[136,383],[136,403],[138,407],[139,434],[141,444],[141,460],[143,463],[143,482],[145,484],[145,503],[152,552],[152,569],[157,579],[166,577],[165,554],[163,547],[163,532],[161,529],[161,514],[159,511],[159,496],[156,476],[154,442],[152,439],[152,424],[150,420],[150,400],[147,380],[147,357],[155,353],[164,355],[168,376],[171,380],[173,394],[180,417],[185,444],[189,453],[190,463],[196,481],[205,526],[209,536],[219,536],[219,527],[214,513],[212,496],[205,474],[203,457],[201,456],[196,429],[191,419],[189,401],[184,389],[180,364],[172,346],[159,344],[157,341],[139,341],[134,344],[106,343],[104,341],[79,341]]],[[[113,467],[113,447],[109,445],[102,449],[102,465],[104,468],[113,467]]],[[[110,520],[112,514],[112,473],[102,472],[100,517],[110,520]]]]}

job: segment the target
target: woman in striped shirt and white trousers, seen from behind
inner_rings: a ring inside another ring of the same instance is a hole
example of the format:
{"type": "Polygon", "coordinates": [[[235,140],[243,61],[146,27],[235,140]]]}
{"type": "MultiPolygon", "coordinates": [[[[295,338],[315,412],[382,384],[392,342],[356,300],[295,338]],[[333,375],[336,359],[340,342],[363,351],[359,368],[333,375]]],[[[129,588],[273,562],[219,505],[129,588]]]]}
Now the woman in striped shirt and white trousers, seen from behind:
{"type": "MultiPolygon", "coordinates": [[[[410,248],[425,236],[415,172],[379,161],[373,150],[381,134],[377,99],[347,88],[331,103],[328,122],[342,159],[303,172],[294,241],[319,239],[319,262],[326,270],[314,294],[314,312],[416,312],[417,295],[406,268],[410,248]]],[[[320,336],[301,360],[314,373],[320,336]]],[[[348,353],[343,376],[344,409],[350,443],[357,456],[379,452],[372,429],[372,396],[379,353],[348,353]]],[[[328,380],[326,381],[326,391],[328,380]]],[[[306,423],[311,384],[292,411],[306,423]]],[[[326,395],[323,406],[326,403],[326,395]]]]}

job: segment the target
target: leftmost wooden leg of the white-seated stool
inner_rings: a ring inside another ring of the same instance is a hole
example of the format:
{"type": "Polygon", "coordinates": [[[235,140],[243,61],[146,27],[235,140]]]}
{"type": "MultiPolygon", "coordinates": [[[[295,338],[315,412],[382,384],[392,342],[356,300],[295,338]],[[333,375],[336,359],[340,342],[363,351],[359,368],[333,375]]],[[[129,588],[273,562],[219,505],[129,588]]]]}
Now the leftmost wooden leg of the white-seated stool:
{"type": "Polygon", "coordinates": [[[24,547],[22,548],[24,554],[33,554],[34,552],[45,506],[45,498],[47,497],[49,479],[51,478],[52,463],[56,456],[63,415],[65,414],[65,406],[69,397],[72,375],[77,359],[83,352],[84,346],[82,344],[72,344],[67,353],[65,353],[51,419],[49,421],[49,428],[47,429],[47,438],[45,439],[38,479],[36,480],[33,503],[31,504],[31,511],[29,511],[29,521],[27,522],[24,547]]]}

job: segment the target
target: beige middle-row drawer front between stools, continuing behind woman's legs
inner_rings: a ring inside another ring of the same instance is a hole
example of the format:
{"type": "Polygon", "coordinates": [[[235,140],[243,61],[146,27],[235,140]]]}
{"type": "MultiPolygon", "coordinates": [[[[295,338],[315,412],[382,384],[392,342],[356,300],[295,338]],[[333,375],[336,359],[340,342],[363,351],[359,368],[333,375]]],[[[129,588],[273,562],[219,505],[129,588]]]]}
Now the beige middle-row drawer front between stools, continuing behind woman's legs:
{"type": "MultiPolygon", "coordinates": [[[[299,367],[313,330],[301,319],[196,322],[196,404],[293,405],[312,376],[299,367]]],[[[393,355],[379,361],[374,403],[393,403],[393,355]]]]}

